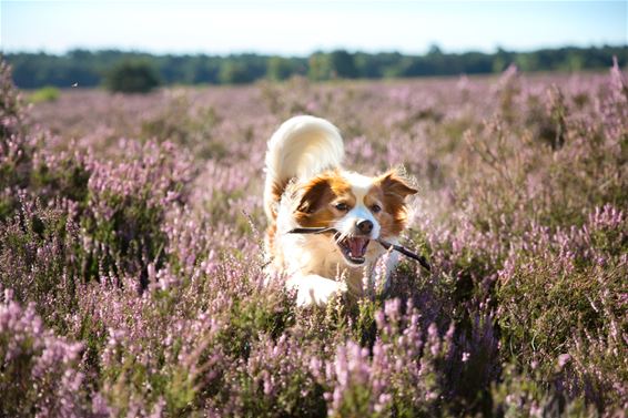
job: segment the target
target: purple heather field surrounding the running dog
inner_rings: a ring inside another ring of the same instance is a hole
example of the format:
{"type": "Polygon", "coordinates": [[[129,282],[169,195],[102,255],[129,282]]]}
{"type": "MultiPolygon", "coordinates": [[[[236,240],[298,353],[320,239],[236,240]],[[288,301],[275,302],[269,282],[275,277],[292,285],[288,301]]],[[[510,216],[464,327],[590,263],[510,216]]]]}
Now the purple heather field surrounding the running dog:
{"type": "Polygon", "coordinates": [[[604,73],[62,91],[0,74],[0,416],[622,417],[628,86],[604,73]],[[265,142],[416,179],[392,287],[265,284],[265,142]]]}

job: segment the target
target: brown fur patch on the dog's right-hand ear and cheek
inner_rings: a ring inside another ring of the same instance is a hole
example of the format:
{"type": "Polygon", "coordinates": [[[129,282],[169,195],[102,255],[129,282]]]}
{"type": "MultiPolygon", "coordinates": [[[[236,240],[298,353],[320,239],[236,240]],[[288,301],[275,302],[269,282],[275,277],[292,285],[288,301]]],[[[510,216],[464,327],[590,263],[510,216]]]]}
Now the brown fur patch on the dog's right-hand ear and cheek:
{"type": "Polygon", "coordinates": [[[405,197],[417,191],[411,187],[406,180],[395,171],[387,172],[374,182],[374,186],[364,197],[364,203],[371,208],[373,204],[382,207],[373,215],[379,222],[382,236],[399,235],[407,225],[407,206],[405,197]]]}

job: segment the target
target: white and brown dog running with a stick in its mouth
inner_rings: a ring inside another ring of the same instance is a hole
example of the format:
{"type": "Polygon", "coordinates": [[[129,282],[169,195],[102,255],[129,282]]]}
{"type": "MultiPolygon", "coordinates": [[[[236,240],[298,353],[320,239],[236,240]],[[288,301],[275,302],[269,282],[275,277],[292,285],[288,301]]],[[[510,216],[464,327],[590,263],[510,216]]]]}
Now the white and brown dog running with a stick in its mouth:
{"type": "MultiPolygon", "coordinates": [[[[417,192],[398,170],[372,177],[344,170],[343,159],[338,129],[315,116],[285,121],[267,143],[265,254],[301,306],[345,292],[363,295],[364,279],[382,271],[375,267],[386,253],[376,239],[398,242],[408,222],[406,197],[417,192]],[[292,233],[312,227],[331,230],[292,233]]],[[[386,284],[396,264],[388,254],[386,284]]]]}

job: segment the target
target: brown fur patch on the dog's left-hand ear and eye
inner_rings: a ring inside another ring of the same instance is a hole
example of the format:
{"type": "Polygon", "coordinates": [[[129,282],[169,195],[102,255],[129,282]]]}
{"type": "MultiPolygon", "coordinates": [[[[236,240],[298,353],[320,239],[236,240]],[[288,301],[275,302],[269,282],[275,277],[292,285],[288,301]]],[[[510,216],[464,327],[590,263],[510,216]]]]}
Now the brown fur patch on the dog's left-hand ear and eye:
{"type": "Polygon", "coordinates": [[[350,207],[355,205],[351,184],[336,171],[320,174],[302,186],[302,197],[294,213],[295,220],[305,227],[330,226],[345,214],[332,206],[333,202],[341,201],[350,207]]]}

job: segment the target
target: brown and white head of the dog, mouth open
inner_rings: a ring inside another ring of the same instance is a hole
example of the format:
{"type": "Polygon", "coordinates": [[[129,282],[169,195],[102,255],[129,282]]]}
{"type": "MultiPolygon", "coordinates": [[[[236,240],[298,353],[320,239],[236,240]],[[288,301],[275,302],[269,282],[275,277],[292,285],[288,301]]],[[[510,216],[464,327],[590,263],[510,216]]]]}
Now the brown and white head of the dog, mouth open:
{"type": "Polygon", "coordinates": [[[333,227],[332,251],[352,267],[381,254],[372,241],[394,238],[407,224],[406,196],[415,194],[397,171],[376,177],[352,172],[322,173],[301,187],[294,217],[303,227],[333,227]],[[369,249],[369,245],[371,248],[369,249]]]}

